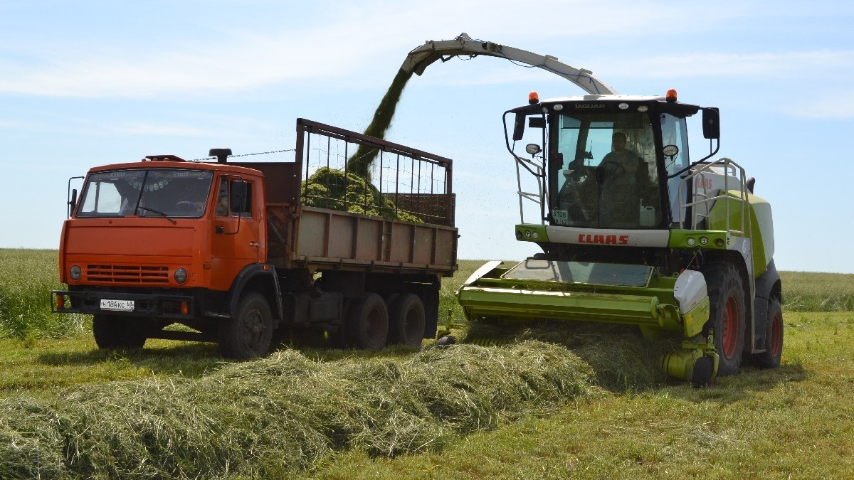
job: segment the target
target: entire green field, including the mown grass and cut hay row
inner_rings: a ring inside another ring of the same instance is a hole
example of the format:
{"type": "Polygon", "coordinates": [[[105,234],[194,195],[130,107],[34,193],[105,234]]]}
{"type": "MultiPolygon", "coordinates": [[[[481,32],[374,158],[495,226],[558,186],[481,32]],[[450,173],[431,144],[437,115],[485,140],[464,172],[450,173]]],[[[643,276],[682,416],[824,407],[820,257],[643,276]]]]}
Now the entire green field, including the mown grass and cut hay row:
{"type": "MultiPolygon", "coordinates": [[[[442,316],[463,323],[442,284],[442,316]]],[[[0,478],[854,477],[854,276],[782,272],[780,367],[693,389],[603,325],[367,353],[100,351],[56,251],[0,250],[0,478]]],[[[457,329],[462,336],[465,331],[457,329]]]]}

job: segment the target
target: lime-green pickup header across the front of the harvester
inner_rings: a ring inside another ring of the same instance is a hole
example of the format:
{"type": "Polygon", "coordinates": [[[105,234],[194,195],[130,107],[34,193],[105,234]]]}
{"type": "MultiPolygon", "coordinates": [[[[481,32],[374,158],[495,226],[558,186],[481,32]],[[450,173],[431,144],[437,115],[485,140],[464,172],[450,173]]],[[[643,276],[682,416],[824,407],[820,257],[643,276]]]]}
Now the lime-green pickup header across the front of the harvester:
{"type": "MultiPolygon", "coordinates": [[[[673,296],[675,283],[676,278],[658,277],[650,266],[526,260],[471,278],[458,298],[469,319],[594,321],[638,325],[650,335],[685,335],[685,318],[673,296]]],[[[705,309],[707,319],[707,301],[705,309]]],[[[702,328],[701,310],[687,316],[691,331],[702,328]]]]}

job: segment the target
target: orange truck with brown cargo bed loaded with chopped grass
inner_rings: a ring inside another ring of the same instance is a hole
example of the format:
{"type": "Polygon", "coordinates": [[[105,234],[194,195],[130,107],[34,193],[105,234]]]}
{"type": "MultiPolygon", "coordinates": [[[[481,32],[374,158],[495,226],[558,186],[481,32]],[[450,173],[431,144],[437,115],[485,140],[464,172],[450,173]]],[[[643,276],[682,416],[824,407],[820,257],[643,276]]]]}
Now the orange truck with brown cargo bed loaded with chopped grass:
{"type": "Polygon", "coordinates": [[[91,314],[99,348],[217,342],[235,359],[284,331],[352,348],[434,337],[457,269],[452,162],[311,120],[296,131],[294,150],[91,168],[68,201],[53,310],[91,314]],[[356,152],[364,177],[348,172],[356,152]]]}

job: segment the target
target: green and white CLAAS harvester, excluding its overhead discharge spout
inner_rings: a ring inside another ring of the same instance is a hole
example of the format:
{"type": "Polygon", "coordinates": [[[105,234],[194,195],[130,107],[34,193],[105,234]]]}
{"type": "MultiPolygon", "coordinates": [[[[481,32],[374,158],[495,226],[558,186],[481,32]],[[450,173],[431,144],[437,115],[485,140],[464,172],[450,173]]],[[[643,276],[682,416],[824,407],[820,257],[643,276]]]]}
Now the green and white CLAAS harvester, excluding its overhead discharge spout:
{"type": "Polygon", "coordinates": [[[672,90],[532,93],[504,120],[518,173],[515,235],[541,251],[475,272],[458,294],[471,321],[594,321],[681,337],[664,372],[698,385],[739,372],[743,359],[779,364],[771,210],[739,164],[711,160],[717,108],[678,102],[672,90]],[[698,117],[710,151],[692,160],[687,122],[698,117]]]}

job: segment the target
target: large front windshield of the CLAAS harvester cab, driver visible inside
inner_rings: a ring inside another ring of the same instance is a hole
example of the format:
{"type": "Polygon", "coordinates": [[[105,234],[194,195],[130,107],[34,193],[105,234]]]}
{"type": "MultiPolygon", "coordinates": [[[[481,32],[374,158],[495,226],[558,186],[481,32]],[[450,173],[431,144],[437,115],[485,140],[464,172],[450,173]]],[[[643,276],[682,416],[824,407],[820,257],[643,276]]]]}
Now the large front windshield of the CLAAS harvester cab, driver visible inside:
{"type": "Polygon", "coordinates": [[[552,156],[549,172],[552,225],[659,225],[662,203],[653,138],[646,114],[561,114],[559,155],[552,156]]]}

